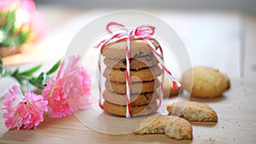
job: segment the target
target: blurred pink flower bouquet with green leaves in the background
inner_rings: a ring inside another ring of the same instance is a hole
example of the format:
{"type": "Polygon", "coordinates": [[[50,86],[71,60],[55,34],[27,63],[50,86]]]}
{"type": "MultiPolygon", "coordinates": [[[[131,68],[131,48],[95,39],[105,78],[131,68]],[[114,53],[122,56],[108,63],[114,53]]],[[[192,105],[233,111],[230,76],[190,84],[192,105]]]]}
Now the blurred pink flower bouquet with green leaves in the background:
{"type": "Polygon", "coordinates": [[[0,57],[20,53],[44,36],[46,27],[32,0],[0,1],[0,57]]]}

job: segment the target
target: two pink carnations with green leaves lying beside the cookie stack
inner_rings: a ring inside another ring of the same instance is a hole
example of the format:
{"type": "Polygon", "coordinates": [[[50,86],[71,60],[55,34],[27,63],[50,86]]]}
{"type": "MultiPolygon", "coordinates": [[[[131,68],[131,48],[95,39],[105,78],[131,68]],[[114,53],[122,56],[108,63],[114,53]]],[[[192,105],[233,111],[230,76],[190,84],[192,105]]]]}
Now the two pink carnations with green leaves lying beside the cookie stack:
{"type": "Polygon", "coordinates": [[[20,82],[20,86],[13,85],[4,94],[3,112],[4,124],[8,130],[36,129],[49,118],[63,118],[79,110],[90,108],[90,75],[83,66],[79,66],[79,55],[72,55],[67,60],[59,60],[48,72],[41,72],[34,76],[40,66],[32,67],[25,72],[19,68],[11,72],[2,66],[0,59],[0,78],[10,76],[20,82]],[[57,71],[58,70],[58,71],[57,71]],[[57,71],[56,76],[53,74],[57,71]],[[24,84],[27,90],[24,90],[24,84]],[[31,86],[41,89],[36,94],[31,86]]]}

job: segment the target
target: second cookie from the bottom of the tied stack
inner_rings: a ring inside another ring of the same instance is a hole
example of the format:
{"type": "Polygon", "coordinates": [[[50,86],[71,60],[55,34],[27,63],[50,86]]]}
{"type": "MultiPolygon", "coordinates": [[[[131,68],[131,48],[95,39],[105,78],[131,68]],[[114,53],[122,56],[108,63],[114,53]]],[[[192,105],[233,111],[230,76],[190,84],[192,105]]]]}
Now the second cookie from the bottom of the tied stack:
{"type": "MultiPolygon", "coordinates": [[[[119,95],[117,93],[111,92],[108,89],[106,89],[103,92],[103,98],[113,104],[116,105],[126,105],[126,95],[119,95]]],[[[147,105],[151,101],[155,101],[158,98],[158,93],[151,92],[151,93],[144,93],[140,95],[131,95],[130,96],[130,101],[131,101],[131,106],[136,106],[136,105],[147,105]]]]}

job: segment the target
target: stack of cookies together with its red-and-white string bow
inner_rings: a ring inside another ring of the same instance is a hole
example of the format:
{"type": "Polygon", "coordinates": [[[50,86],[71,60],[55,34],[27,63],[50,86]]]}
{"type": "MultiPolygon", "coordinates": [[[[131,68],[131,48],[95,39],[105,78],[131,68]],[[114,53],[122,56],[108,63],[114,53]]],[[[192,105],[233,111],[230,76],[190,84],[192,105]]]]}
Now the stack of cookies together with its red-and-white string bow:
{"type": "Polygon", "coordinates": [[[156,112],[163,95],[164,72],[172,78],[174,86],[179,84],[164,66],[162,49],[153,37],[154,26],[131,29],[110,22],[107,31],[112,37],[96,46],[101,48],[98,59],[99,106],[105,112],[127,118],[156,112]],[[118,26],[119,31],[111,31],[110,26],[118,26]],[[157,49],[160,49],[160,54],[157,49]],[[102,55],[107,66],[104,71],[102,55]],[[103,91],[102,75],[107,79],[103,91]],[[162,79],[158,78],[161,75],[162,79]]]}

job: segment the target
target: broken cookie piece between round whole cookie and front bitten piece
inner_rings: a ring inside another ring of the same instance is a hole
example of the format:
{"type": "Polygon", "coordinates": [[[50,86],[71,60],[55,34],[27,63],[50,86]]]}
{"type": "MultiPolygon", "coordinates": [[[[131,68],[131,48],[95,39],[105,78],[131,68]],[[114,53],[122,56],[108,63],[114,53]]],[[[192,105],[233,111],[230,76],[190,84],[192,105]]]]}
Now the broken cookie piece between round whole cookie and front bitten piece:
{"type": "Polygon", "coordinates": [[[185,118],[190,122],[217,122],[217,113],[207,104],[187,101],[167,106],[169,114],[185,118]]]}

